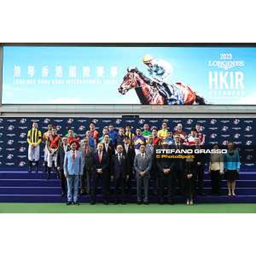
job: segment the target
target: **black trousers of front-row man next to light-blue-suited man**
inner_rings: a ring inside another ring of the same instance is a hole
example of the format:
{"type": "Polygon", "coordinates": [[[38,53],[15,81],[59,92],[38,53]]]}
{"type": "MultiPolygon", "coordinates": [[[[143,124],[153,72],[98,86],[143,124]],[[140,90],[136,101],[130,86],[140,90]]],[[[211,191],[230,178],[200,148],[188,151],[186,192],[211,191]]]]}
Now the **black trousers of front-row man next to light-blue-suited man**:
{"type": "Polygon", "coordinates": [[[109,175],[108,173],[102,173],[98,174],[94,172],[92,174],[92,179],[91,179],[91,201],[95,202],[96,200],[96,189],[101,183],[102,187],[102,197],[103,201],[108,201],[108,184],[109,184],[109,175]]]}

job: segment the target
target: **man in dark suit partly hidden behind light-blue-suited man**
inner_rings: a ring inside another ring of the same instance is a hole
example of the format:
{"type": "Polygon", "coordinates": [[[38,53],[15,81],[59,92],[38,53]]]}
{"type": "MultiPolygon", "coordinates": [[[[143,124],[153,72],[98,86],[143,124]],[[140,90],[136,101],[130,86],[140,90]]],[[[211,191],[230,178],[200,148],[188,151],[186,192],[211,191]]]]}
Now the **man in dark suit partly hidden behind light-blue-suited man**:
{"type": "Polygon", "coordinates": [[[65,153],[67,151],[70,151],[70,146],[68,145],[67,137],[62,138],[62,146],[59,148],[57,153],[57,171],[59,174],[59,177],[61,178],[61,196],[64,197],[67,195],[67,179],[64,175],[64,158],[65,153]]]}

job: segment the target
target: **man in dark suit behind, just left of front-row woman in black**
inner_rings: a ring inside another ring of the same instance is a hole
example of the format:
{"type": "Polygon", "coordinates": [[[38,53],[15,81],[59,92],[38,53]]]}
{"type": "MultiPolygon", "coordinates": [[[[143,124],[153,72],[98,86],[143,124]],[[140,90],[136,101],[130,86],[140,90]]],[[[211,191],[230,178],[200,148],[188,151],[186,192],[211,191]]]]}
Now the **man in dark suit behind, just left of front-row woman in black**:
{"type": "MultiPolygon", "coordinates": [[[[170,145],[171,149],[175,149],[175,150],[186,149],[186,146],[182,145],[180,143],[180,135],[179,134],[175,134],[174,141],[175,141],[175,143],[173,145],[170,145]]],[[[177,153],[177,155],[179,155],[179,153],[177,153]]],[[[175,174],[175,179],[177,182],[177,186],[179,188],[180,195],[184,194],[184,184],[185,184],[184,171],[185,171],[185,168],[186,168],[186,166],[185,166],[184,160],[175,159],[172,161],[171,171],[174,172],[174,174],[175,174]]]]}

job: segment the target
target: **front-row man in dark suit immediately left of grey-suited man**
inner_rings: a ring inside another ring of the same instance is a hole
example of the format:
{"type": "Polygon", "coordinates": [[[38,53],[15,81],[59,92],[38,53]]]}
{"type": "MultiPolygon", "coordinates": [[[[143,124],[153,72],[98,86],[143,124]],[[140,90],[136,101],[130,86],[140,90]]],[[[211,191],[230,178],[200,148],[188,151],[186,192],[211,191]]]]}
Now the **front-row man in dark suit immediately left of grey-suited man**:
{"type": "Polygon", "coordinates": [[[112,179],[114,180],[114,197],[115,204],[125,204],[125,180],[128,179],[128,161],[127,156],[123,153],[122,145],[116,146],[117,153],[113,155],[112,163],[112,179]],[[120,192],[119,192],[120,190],[120,192]]]}

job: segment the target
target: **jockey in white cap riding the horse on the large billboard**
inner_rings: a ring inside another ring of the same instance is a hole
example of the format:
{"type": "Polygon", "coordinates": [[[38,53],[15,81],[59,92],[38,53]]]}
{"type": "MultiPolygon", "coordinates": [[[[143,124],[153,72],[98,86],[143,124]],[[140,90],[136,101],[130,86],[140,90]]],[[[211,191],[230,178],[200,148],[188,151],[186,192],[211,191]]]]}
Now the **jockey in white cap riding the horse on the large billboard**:
{"type": "Polygon", "coordinates": [[[155,59],[151,55],[143,57],[143,63],[147,66],[152,86],[156,86],[159,93],[169,105],[183,104],[183,97],[175,86],[168,84],[168,77],[172,74],[172,65],[164,60],[155,59]],[[155,83],[154,83],[155,82],[155,83]]]}

